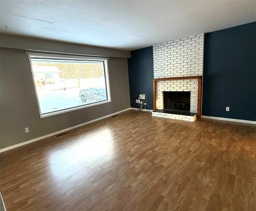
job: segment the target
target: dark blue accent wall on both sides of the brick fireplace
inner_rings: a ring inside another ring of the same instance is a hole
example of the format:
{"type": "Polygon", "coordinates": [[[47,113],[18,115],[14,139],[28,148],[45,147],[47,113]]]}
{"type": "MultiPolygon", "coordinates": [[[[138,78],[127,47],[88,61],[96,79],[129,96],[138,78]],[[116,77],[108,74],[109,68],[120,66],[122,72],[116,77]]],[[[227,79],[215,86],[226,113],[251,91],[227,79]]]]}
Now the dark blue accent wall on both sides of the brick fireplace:
{"type": "MultiPolygon", "coordinates": [[[[145,93],[152,108],[153,48],[128,65],[131,107],[145,93]]],[[[256,121],[256,22],[205,34],[202,114],[256,121]]]]}

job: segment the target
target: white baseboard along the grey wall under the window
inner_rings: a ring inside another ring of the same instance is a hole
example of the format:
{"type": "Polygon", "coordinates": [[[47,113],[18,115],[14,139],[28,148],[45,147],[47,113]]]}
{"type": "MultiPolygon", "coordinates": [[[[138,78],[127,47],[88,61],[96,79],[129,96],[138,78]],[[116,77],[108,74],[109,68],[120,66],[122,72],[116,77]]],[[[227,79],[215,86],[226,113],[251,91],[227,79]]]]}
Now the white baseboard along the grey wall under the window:
{"type": "Polygon", "coordinates": [[[63,133],[63,132],[66,132],[66,131],[69,131],[69,130],[72,130],[72,129],[75,129],[75,128],[78,128],[78,127],[81,127],[81,126],[84,126],[84,125],[88,125],[88,124],[90,124],[90,123],[93,123],[93,122],[96,122],[96,121],[99,121],[99,120],[108,118],[108,117],[110,117],[110,116],[116,115],[116,114],[118,114],[118,113],[122,113],[122,112],[127,111],[127,110],[130,110],[130,109],[131,109],[131,108],[126,108],[126,109],[117,111],[117,112],[115,112],[115,113],[111,113],[111,114],[108,114],[108,115],[105,115],[105,116],[101,116],[100,118],[97,118],[97,119],[94,119],[94,120],[91,120],[91,121],[88,121],[88,122],[81,123],[81,124],[79,124],[79,125],[74,125],[74,126],[69,127],[69,128],[65,128],[65,129],[58,130],[58,131],[53,132],[53,133],[49,133],[49,134],[42,135],[42,136],[39,136],[39,137],[30,139],[30,140],[26,140],[25,142],[21,142],[21,143],[15,144],[15,145],[11,145],[11,146],[9,146],[9,147],[0,149],[0,153],[6,152],[6,151],[8,151],[8,150],[15,149],[15,148],[17,148],[17,147],[21,147],[21,146],[24,146],[24,145],[27,145],[27,144],[30,144],[30,143],[33,143],[33,142],[37,142],[38,140],[41,140],[41,139],[44,139],[44,138],[48,138],[48,137],[50,137],[50,136],[57,135],[57,134],[59,134],[59,133],[63,133]]]}

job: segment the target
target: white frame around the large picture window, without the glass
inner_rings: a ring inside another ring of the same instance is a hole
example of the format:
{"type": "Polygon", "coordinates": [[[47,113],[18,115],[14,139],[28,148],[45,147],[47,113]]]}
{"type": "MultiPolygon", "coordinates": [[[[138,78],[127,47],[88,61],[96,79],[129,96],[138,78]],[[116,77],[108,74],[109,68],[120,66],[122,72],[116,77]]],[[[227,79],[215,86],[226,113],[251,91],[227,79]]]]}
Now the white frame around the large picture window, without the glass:
{"type": "Polygon", "coordinates": [[[29,58],[30,70],[31,70],[32,78],[33,78],[33,85],[34,85],[34,90],[35,90],[36,101],[37,101],[37,106],[38,106],[40,119],[46,118],[48,116],[58,115],[58,114],[61,114],[61,113],[67,113],[67,112],[70,112],[70,111],[75,111],[75,110],[79,110],[79,109],[92,107],[92,106],[97,106],[97,105],[101,105],[101,104],[111,102],[109,67],[108,67],[108,59],[109,58],[91,57],[91,56],[55,55],[55,54],[29,53],[29,52],[26,52],[26,53],[27,53],[28,58],[29,58]],[[100,62],[103,62],[107,100],[96,102],[96,103],[91,103],[91,104],[87,104],[87,105],[81,105],[81,106],[76,106],[76,107],[72,107],[72,108],[67,108],[67,109],[61,109],[59,111],[53,111],[53,112],[50,112],[50,113],[42,114],[41,108],[40,108],[40,102],[39,102],[39,98],[38,98],[38,94],[37,94],[37,90],[36,90],[36,82],[35,82],[35,78],[34,78],[33,68],[32,68],[31,59],[33,59],[33,58],[36,58],[36,59],[63,59],[63,60],[76,60],[76,61],[79,60],[79,61],[100,61],[100,62]]]}

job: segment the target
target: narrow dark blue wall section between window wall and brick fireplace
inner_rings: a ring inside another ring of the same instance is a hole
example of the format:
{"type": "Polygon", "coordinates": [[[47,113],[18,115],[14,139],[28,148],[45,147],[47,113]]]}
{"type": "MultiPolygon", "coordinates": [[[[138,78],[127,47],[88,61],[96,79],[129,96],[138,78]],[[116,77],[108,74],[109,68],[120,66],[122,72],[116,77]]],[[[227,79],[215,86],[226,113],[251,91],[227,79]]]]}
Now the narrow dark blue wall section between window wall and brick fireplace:
{"type": "Polygon", "coordinates": [[[150,108],[153,108],[153,47],[131,52],[128,59],[131,107],[137,108],[135,100],[139,94],[146,94],[150,108]]]}

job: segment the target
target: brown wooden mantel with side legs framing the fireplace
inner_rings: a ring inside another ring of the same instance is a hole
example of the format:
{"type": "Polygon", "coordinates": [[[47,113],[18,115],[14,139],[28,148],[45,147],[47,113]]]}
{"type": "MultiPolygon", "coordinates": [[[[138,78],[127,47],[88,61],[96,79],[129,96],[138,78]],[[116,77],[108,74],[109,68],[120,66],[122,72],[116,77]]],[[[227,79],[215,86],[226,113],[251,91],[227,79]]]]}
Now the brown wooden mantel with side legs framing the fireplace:
{"type": "Polygon", "coordinates": [[[186,79],[197,79],[198,80],[197,118],[201,119],[202,76],[184,76],[184,77],[152,79],[152,82],[153,82],[153,109],[154,110],[157,109],[157,81],[186,80],[186,79]]]}

